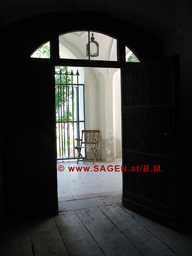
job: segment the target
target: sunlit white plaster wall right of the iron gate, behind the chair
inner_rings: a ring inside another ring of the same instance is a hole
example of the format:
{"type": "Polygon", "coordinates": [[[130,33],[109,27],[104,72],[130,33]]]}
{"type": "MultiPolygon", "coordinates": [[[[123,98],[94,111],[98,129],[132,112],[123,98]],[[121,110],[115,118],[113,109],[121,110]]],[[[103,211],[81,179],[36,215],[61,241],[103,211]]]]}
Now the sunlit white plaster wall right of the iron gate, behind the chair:
{"type": "Polygon", "coordinates": [[[84,70],[86,129],[100,129],[101,131],[100,159],[111,161],[120,158],[120,69],[84,68],[84,70]]]}

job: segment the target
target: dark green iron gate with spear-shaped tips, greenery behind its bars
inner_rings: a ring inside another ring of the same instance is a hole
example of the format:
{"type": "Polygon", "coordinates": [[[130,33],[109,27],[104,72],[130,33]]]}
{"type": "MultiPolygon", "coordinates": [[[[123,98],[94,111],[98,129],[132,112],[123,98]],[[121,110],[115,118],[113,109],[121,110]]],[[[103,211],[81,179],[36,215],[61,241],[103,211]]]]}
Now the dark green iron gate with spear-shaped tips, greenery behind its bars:
{"type": "Polygon", "coordinates": [[[67,67],[55,67],[57,160],[78,158],[74,149],[84,129],[84,84],[67,67]]]}

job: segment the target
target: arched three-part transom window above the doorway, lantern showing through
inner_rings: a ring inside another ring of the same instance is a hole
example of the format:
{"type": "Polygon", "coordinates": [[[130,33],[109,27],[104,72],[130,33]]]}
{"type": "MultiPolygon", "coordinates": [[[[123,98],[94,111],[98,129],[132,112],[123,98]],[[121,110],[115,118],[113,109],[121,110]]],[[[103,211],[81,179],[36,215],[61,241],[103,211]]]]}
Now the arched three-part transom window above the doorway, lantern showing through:
{"type": "MultiPolygon", "coordinates": [[[[60,59],[117,61],[117,39],[95,31],[75,31],[59,35],[60,59]]],[[[50,58],[50,42],[39,46],[32,58],[50,58]]],[[[139,62],[138,57],[125,46],[125,60],[139,62]]]]}

